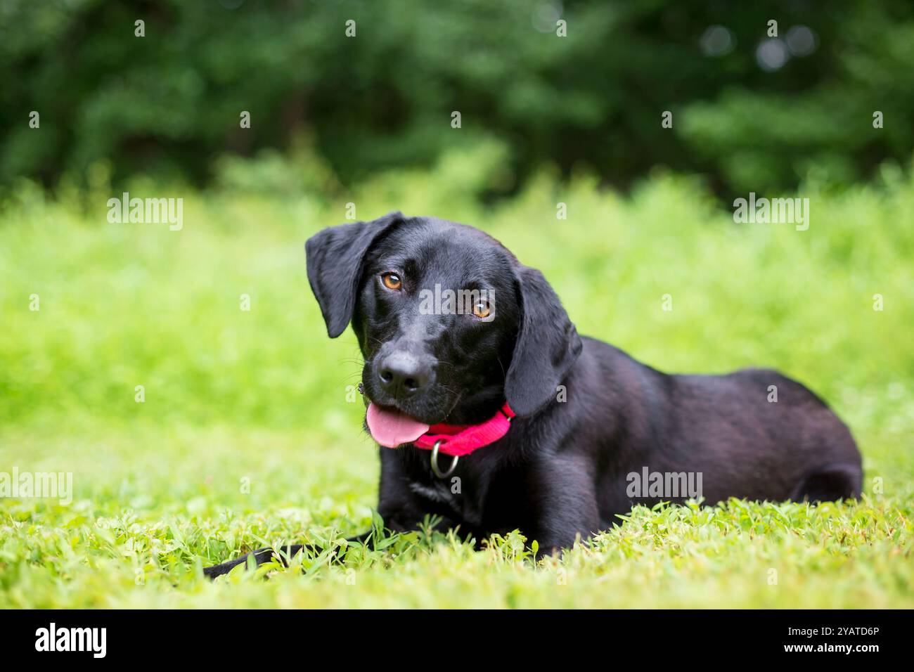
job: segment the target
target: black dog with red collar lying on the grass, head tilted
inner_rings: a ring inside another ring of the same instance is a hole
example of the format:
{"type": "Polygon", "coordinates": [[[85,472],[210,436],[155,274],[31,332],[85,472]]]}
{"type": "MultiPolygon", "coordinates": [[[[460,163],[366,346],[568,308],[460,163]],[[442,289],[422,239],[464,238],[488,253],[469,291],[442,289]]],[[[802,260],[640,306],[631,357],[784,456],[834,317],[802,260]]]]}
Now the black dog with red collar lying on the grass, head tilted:
{"type": "Polygon", "coordinates": [[[860,492],[854,439],[809,389],[767,369],[666,375],[579,337],[543,275],[482,231],[398,212],[324,229],[305,248],[329,335],[351,322],[365,357],[367,428],[377,443],[402,443],[380,448],[387,528],[415,529],[435,514],[476,539],[519,528],[553,552],[634,504],[860,492]],[[463,290],[472,309],[429,303],[448,289],[463,290]],[[506,433],[505,401],[516,416],[506,433]],[[444,422],[494,423],[504,436],[442,479],[452,458],[432,464],[417,445],[444,422]],[[701,492],[671,493],[685,476],[700,477],[701,492]]]}

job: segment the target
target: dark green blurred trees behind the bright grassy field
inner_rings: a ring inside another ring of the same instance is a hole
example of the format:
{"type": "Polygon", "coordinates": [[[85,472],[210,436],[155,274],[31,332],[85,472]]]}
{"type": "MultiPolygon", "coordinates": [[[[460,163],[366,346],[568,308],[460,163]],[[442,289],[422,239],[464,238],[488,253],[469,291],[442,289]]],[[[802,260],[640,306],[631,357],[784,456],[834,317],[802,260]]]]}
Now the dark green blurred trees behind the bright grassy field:
{"type": "Polygon", "coordinates": [[[221,155],[305,137],[345,185],[486,138],[509,170],[484,196],[544,163],[619,186],[667,165],[730,196],[846,184],[907,164],[911,72],[914,5],[897,0],[5,0],[0,180],[106,160],[116,184],[202,184],[221,155]]]}

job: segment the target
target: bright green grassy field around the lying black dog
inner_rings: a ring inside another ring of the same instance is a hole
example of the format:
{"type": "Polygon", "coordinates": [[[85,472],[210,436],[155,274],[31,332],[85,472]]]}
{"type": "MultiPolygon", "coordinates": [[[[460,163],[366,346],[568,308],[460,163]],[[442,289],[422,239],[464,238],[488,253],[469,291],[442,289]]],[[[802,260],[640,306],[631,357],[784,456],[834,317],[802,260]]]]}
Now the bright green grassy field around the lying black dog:
{"type": "Polygon", "coordinates": [[[664,174],[621,197],[544,173],[481,206],[460,195],[497,176],[484,159],[334,197],[308,196],[327,193],[320,171],[259,192],[231,165],[207,193],[130,189],[183,197],[180,231],[108,223],[103,179],[55,197],[18,188],[0,212],[0,472],[72,473],[73,498],[0,498],[0,607],[914,606],[914,182],[807,185],[797,231],[738,226],[664,174]],[[243,550],[372,524],[356,342],[326,337],[303,253],[350,201],[359,219],[402,209],[490,231],[545,272],[580,333],[656,368],[781,368],[850,425],[866,495],[636,508],[538,565],[517,534],[474,552],[414,533],[350,546],[341,564],[203,580],[243,550]]]}

